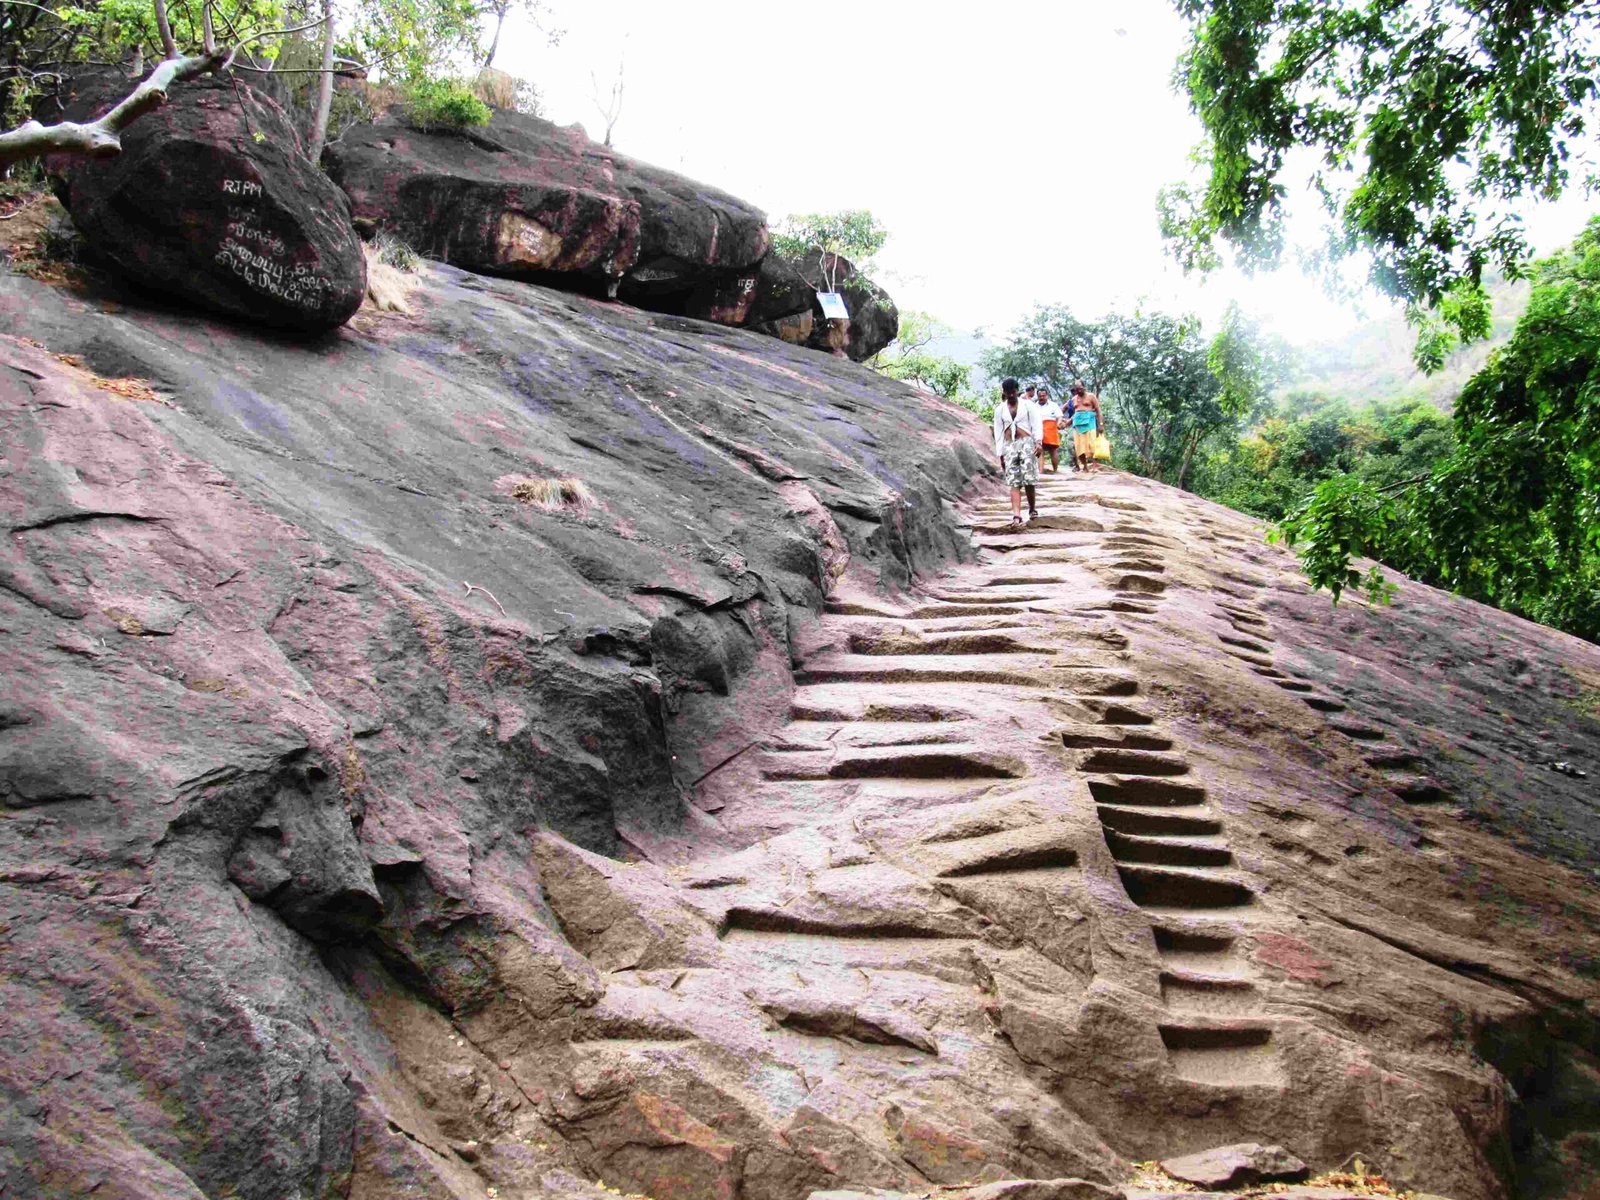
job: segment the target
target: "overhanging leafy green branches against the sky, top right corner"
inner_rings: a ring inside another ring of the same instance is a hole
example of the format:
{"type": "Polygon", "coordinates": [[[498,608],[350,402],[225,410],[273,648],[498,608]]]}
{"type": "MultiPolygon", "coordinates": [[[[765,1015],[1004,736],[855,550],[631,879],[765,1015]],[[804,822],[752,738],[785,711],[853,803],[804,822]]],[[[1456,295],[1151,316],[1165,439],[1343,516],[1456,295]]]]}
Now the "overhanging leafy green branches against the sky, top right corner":
{"type": "Polygon", "coordinates": [[[1517,275],[1514,208],[1570,182],[1600,70],[1600,8],[1571,0],[1174,0],[1179,82],[1205,126],[1202,179],[1162,195],[1186,267],[1283,251],[1291,170],[1330,216],[1320,251],[1362,251],[1422,326],[1418,360],[1488,330],[1483,272],[1517,275]],[[1306,157],[1296,150],[1306,149],[1306,157]]]}

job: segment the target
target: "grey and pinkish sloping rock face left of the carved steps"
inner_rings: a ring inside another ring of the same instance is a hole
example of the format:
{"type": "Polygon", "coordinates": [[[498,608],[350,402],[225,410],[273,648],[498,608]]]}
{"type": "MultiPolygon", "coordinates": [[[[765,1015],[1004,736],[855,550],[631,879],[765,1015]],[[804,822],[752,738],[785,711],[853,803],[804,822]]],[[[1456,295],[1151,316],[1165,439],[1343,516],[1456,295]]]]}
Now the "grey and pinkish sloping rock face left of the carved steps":
{"type": "Polygon", "coordinates": [[[942,502],[987,459],[848,363],[432,272],[314,349],[0,277],[74,355],[0,339],[19,1195],[744,1170],[702,1098],[547,1107],[472,1043],[653,1027],[606,978],[715,931],[600,854],[715,840],[686,789],[782,712],[824,589],[970,554],[942,502]]]}

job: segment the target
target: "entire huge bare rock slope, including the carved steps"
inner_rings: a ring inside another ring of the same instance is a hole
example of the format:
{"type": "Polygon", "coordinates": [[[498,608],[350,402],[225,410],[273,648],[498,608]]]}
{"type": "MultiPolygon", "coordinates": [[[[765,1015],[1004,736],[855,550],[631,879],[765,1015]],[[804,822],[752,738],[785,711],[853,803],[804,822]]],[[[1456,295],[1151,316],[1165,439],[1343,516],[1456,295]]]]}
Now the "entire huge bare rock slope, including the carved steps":
{"type": "Polygon", "coordinates": [[[1595,646],[744,330],[109,299],[0,275],[8,1189],[1590,1189],[1595,646]]]}

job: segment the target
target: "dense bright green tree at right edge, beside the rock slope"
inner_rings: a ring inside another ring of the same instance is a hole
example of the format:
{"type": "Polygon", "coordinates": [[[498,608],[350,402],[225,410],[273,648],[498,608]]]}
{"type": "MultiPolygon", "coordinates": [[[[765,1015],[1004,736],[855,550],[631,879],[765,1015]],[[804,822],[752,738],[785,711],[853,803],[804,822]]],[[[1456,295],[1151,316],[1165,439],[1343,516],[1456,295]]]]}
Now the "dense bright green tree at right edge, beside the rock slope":
{"type": "Polygon", "coordinates": [[[1510,341],[1456,403],[1456,448],[1421,475],[1336,475],[1282,525],[1334,600],[1382,600],[1378,558],[1600,640],[1600,219],[1534,270],[1510,341]]]}

